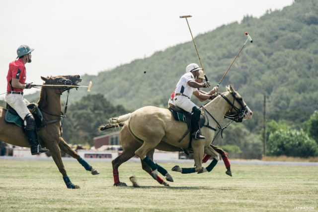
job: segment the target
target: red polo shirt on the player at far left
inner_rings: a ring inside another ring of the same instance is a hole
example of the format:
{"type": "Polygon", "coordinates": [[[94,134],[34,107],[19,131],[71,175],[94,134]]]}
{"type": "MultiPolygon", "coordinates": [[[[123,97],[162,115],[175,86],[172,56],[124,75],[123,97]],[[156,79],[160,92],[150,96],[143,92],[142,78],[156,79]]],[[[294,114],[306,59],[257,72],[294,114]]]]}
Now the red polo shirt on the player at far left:
{"type": "Polygon", "coordinates": [[[21,84],[25,83],[26,80],[26,70],[22,59],[15,60],[9,64],[8,75],[6,76],[7,87],[6,91],[20,91],[23,89],[17,89],[12,87],[12,78],[19,79],[21,84]]]}

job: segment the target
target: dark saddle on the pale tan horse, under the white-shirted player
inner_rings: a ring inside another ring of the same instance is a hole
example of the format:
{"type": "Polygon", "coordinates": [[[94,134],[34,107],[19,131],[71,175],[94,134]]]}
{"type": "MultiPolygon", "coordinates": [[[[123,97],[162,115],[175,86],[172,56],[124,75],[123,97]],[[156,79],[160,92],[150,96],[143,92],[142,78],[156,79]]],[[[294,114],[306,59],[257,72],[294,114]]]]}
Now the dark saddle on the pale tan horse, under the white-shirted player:
{"type": "MultiPolygon", "coordinates": [[[[171,112],[172,112],[172,115],[174,117],[175,120],[177,121],[182,121],[182,122],[185,122],[188,126],[188,129],[190,129],[190,132],[194,132],[193,130],[193,123],[192,123],[192,113],[189,113],[187,111],[185,111],[184,109],[178,107],[178,106],[170,106],[168,108],[171,112]]],[[[200,120],[199,120],[199,126],[200,128],[202,128],[204,126],[204,123],[205,123],[205,117],[204,115],[200,115],[200,120]]]]}

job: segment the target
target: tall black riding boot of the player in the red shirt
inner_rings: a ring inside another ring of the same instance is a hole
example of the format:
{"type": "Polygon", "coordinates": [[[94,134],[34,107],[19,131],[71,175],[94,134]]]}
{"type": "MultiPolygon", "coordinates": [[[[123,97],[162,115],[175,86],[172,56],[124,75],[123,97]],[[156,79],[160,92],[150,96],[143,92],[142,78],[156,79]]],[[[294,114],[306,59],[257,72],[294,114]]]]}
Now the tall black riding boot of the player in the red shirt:
{"type": "Polygon", "coordinates": [[[28,142],[30,144],[31,155],[37,155],[40,153],[48,152],[48,149],[44,149],[37,141],[37,135],[35,132],[35,121],[31,114],[25,116],[25,134],[28,136],[28,142]]]}

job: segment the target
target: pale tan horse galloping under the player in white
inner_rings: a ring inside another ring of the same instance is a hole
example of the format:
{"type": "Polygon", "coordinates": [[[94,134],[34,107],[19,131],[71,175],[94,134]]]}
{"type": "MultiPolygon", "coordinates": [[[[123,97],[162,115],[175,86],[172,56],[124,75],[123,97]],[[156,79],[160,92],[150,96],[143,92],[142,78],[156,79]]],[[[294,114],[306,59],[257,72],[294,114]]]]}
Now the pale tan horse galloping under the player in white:
{"type": "MultiPolygon", "coordinates": [[[[183,174],[210,172],[219,159],[218,152],[210,145],[215,134],[213,129],[218,127],[226,113],[232,114],[227,115],[228,117],[241,121],[241,119],[250,119],[252,112],[232,86],[227,87],[227,92],[207,103],[201,110],[202,114],[206,116],[206,125],[210,127],[201,129],[206,139],[193,140],[191,146],[189,145],[189,134],[179,142],[184,132],[187,131],[187,126],[183,122],[176,121],[168,109],[146,106],[133,113],[111,118],[112,123],[123,126],[120,131],[123,152],[112,161],[115,185],[126,185],[119,181],[118,167],[134,155],[140,157],[143,169],[150,173],[160,184],[167,185],[159,177],[158,171],[166,177],[167,181],[173,182],[171,175],[159,164],[153,162],[155,148],[174,152],[182,151],[182,148],[186,149],[190,146],[194,153],[195,168],[175,166],[172,171],[178,171],[183,174]],[[204,153],[214,157],[211,164],[206,168],[202,167],[204,153]]],[[[100,129],[103,130],[107,128],[106,126],[101,126],[100,129]]]]}

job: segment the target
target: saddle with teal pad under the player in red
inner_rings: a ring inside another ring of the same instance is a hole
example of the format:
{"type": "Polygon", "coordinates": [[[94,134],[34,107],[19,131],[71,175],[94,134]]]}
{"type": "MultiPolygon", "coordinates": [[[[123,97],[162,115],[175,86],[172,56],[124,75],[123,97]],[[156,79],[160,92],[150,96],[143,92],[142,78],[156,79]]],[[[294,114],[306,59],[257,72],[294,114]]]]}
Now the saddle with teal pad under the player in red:
{"type": "MultiPolygon", "coordinates": [[[[32,113],[34,119],[36,128],[40,129],[43,126],[44,118],[42,115],[41,110],[38,108],[37,104],[30,103],[27,108],[32,113]]],[[[18,113],[8,104],[6,104],[6,112],[4,116],[4,120],[8,123],[14,123],[15,125],[23,128],[24,127],[24,121],[22,118],[18,115],[18,113]]]]}

